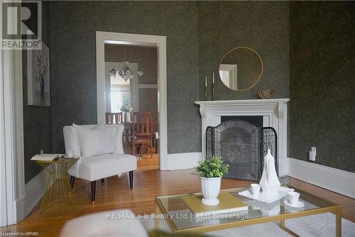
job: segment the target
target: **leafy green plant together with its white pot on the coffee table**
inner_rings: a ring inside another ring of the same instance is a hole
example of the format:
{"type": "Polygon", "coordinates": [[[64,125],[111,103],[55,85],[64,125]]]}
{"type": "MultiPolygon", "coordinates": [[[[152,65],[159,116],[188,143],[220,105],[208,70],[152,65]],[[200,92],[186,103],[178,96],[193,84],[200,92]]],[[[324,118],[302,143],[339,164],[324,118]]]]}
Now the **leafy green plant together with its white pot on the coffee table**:
{"type": "Polygon", "coordinates": [[[229,165],[224,164],[222,158],[214,156],[200,160],[196,167],[200,175],[201,189],[203,194],[202,203],[205,205],[217,205],[219,191],[221,189],[222,176],[228,172],[229,165]]]}

